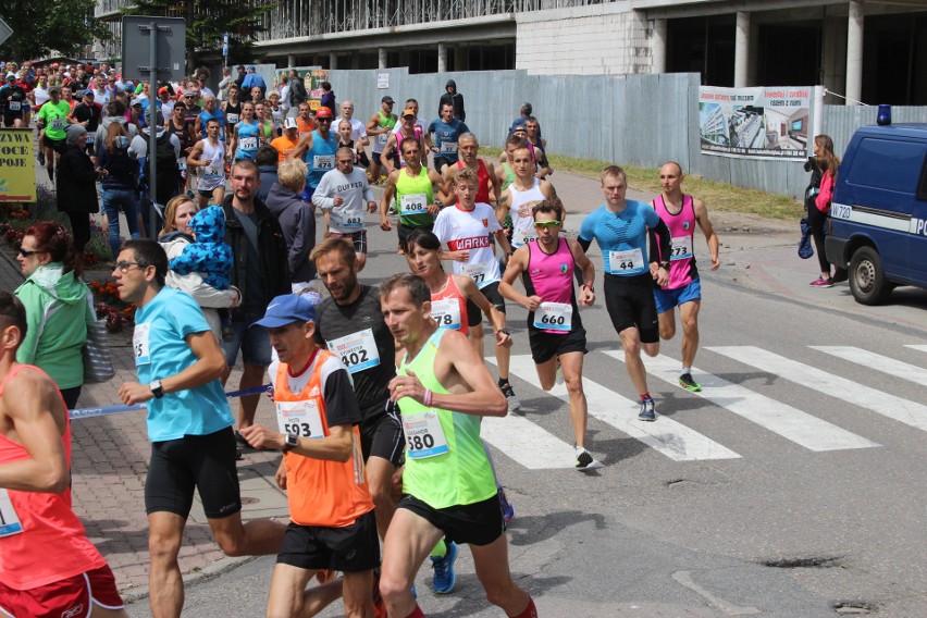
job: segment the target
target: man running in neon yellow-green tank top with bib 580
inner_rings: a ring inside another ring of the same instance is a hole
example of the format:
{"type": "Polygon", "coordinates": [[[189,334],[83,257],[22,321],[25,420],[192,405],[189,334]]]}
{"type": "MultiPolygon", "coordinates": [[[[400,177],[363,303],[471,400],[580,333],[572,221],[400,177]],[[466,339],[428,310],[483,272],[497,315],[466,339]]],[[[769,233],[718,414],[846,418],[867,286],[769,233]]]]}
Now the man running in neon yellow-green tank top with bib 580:
{"type": "Polygon", "coordinates": [[[444,537],[468,543],[486,597],[515,618],[536,618],[511,579],[505,524],[480,418],[506,415],[505,397],[467,338],[431,319],[431,293],[413,274],[381,285],[383,317],[403,345],[391,399],[408,442],[399,508],[383,548],[380,591],[391,616],[422,617],[410,588],[424,557],[444,537]]]}

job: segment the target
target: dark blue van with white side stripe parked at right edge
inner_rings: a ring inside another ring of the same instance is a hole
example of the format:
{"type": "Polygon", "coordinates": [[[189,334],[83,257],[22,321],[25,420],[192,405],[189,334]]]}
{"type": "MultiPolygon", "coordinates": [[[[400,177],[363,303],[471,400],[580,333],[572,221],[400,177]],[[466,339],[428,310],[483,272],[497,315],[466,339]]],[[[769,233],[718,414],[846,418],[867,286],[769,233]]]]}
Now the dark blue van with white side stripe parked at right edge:
{"type": "Polygon", "coordinates": [[[927,287],[927,124],[857,129],[830,217],[827,259],[857,302],[885,302],[898,285],[927,287]]]}

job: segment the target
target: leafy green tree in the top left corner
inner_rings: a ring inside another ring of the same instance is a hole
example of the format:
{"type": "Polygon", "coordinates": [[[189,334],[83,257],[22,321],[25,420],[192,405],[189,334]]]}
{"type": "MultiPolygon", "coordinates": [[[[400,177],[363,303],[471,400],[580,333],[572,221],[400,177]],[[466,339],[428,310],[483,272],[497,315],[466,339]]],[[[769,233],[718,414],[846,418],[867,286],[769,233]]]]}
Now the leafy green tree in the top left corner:
{"type": "Polygon", "coordinates": [[[13,34],[0,46],[0,58],[16,61],[42,58],[50,51],[82,55],[94,39],[108,40],[110,32],[94,17],[95,0],[4,0],[13,34]]]}

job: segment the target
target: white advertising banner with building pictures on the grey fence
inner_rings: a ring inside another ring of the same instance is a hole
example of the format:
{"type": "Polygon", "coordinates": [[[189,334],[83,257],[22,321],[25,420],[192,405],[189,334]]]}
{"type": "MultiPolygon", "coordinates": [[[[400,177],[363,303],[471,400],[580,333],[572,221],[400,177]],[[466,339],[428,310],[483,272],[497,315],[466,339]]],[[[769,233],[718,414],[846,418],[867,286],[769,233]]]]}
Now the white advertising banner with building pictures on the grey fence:
{"type": "Polygon", "coordinates": [[[811,86],[702,86],[699,88],[702,153],[804,160],[812,96],[811,86]]]}

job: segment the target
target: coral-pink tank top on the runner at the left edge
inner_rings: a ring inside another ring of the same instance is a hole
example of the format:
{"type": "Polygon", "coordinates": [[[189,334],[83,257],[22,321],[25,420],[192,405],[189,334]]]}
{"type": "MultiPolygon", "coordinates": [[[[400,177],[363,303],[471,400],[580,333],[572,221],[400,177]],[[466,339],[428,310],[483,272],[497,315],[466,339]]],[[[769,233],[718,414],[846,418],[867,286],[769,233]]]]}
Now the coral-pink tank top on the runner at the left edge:
{"type": "MultiPolygon", "coordinates": [[[[38,371],[48,380],[46,373],[37,367],[21,364],[13,369],[0,383],[0,398],[3,390],[20,371],[38,371]]],[[[61,407],[66,410],[64,399],[61,407]]],[[[67,420],[61,435],[64,446],[64,459],[71,468],[71,421],[67,420]]],[[[9,464],[28,458],[28,452],[0,433],[0,464],[9,464]]],[[[0,490],[3,492],[4,490],[0,490]]],[[[81,520],[71,510],[71,490],[60,494],[18,492],[5,490],[10,502],[0,504],[0,529],[4,521],[9,523],[12,514],[20,520],[22,532],[0,536],[0,581],[14,590],[30,590],[52,582],[78,576],[83,572],[106,566],[107,560],[87,539],[81,520]]]]}

